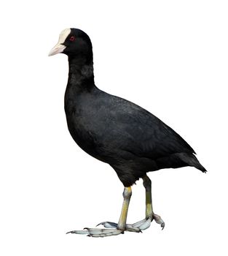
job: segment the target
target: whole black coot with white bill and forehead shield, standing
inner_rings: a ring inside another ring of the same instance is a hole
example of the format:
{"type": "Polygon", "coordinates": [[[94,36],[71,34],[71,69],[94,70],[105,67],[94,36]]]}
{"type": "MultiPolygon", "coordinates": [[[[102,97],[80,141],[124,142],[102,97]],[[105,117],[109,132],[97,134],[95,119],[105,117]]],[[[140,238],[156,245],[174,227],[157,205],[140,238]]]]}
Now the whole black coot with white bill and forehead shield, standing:
{"type": "Polygon", "coordinates": [[[151,181],[147,172],[163,168],[192,166],[206,172],[186,141],[159,118],[126,99],[107,94],[94,83],[93,50],[90,37],[80,29],[65,29],[50,56],[65,53],[69,72],[65,93],[68,130],[75,142],[92,157],[106,162],[125,186],[119,222],[101,222],[108,228],[86,228],[69,233],[93,237],[114,236],[125,230],[141,232],[154,219],[165,222],[152,208],[151,181]],[[126,224],[131,186],[143,178],[146,189],[146,217],[126,224]]]}

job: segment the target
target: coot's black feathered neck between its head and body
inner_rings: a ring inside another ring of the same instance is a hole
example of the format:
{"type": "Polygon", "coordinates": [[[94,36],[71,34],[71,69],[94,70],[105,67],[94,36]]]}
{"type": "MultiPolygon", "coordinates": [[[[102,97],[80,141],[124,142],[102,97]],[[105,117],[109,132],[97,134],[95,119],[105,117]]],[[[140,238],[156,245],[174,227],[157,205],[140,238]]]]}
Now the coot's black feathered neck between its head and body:
{"type": "Polygon", "coordinates": [[[90,91],[95,87],[93,75],[93,56],[68,56],[68,86],[79,91],[90,91]]]}

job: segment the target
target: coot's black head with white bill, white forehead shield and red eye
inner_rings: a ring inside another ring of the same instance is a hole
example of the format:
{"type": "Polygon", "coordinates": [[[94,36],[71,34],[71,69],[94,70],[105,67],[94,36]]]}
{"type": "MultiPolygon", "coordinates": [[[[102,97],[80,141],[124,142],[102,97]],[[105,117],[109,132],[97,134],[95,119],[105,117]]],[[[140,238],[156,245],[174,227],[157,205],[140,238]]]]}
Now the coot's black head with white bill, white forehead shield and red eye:
{"type": "Polygon", "coordinates": [[[80,29],[64,29],[59,36],[58,43],[49,56],[65,53],[69,57],[93,56],[90,37],[80,29]]]}

